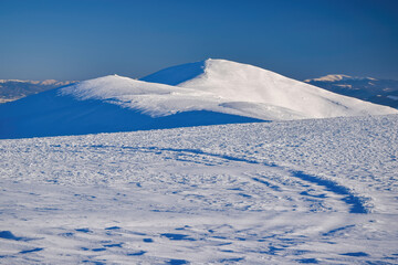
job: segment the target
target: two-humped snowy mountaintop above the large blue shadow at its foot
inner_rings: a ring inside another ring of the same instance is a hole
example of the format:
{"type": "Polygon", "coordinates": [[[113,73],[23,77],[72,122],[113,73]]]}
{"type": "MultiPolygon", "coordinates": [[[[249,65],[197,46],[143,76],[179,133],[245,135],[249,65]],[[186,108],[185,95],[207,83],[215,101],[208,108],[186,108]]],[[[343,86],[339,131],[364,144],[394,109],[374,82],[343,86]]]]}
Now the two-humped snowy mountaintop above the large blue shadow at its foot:
{"type": "Polygon", "coordinates": [[[108,100],[139,109],[151,117],[190,110],[210,110],[263,120],[397,113],[394,108],[345,97],[227,60],[209,59],[160,72],[153,74],[153,77],[144,77],[144,81],[105,76],[64,87],[61,93],[83,100],[108,100]],[[197,75],[186,80],[187,72],[197,75]]]}

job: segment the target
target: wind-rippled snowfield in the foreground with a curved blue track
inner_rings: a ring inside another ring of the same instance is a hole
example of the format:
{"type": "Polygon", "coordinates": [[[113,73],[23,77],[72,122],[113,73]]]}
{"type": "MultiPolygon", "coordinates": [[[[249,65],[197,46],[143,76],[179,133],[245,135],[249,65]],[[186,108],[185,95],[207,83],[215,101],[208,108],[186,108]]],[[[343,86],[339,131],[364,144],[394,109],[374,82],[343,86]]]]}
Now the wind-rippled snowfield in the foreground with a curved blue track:
{"type": "Polygon", "coordinates": [[[2,264],[397,264],[398,116],[0,140],[2,264]]]}

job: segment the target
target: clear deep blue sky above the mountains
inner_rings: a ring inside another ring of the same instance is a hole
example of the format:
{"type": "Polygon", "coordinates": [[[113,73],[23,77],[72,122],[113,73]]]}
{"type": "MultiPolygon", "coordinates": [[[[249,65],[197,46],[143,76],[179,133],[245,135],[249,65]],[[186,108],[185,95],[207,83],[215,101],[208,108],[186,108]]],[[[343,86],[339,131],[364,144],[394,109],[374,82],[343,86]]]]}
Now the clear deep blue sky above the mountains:
{"type": "Polygon", "coordinates": [[[0,78],[142,77],[207,57],[398,80],[398,1],[0,0],[0,78]]]}

